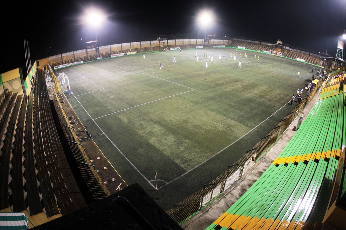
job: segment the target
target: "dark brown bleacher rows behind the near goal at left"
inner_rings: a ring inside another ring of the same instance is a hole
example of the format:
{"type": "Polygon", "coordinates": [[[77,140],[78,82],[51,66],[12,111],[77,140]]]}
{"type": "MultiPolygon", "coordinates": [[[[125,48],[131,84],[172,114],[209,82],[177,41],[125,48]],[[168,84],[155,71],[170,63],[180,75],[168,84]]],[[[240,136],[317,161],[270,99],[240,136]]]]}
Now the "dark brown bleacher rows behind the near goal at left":
{"type": "MultiPolygon", "coordinates": [[[[73,159],[64,151],[43,70],[37,69],[34,79],[27,98],[8,90],[0,96],[0,209],[26,210],[30,216],[69,214],[89,203],[89,193],[98,200],[109,192],[89,165],[79,170],[93,183],[86,181],[88,186],[81,187],[73,162],[82,158],[73,159]]],[[[74,141],[81,146],[78,138],[74,141]]]]}

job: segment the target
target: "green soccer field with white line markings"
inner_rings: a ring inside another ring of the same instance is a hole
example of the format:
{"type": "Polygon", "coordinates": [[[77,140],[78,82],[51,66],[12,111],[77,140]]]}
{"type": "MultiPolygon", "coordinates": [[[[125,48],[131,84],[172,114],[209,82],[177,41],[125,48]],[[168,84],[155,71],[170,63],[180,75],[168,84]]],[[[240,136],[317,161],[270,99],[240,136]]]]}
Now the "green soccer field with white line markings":
{"type": "Polygon", "coordinates": [[[56,72],[69,77],[74,111],[121,177],[167,210],[276,127],[293,109],[292,94],[311,82],[310,64],[244,50],[233,61],[230,51],[136,54],[56,72]]]}

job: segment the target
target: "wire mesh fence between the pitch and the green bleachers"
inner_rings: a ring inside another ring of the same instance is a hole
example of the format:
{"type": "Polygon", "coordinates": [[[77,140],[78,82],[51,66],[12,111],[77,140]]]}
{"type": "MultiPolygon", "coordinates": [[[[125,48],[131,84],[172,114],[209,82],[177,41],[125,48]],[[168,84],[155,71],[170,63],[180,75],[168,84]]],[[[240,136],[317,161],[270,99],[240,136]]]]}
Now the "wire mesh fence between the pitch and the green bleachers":
{"type": "Polygon", "coordinates": [[[216,179],[208,184],[204,184],[200,190],[178,204],[175,204],[167,213],[179,224],[183,224],[208,206],[208,204],[216,199],[222,192],[231,187],[233,183],[241,178],[244,173],[272,147],[277,139],[281,137],[289,125],[300,115],[313,96],[315,96],[317,90],[322,86],[322,82],[322,79],[318,81],[315,88],[313,88],[271,132],[255,144],[251,150],[248,150],[243,157],[229,166],[226,171],[216,179]]]}

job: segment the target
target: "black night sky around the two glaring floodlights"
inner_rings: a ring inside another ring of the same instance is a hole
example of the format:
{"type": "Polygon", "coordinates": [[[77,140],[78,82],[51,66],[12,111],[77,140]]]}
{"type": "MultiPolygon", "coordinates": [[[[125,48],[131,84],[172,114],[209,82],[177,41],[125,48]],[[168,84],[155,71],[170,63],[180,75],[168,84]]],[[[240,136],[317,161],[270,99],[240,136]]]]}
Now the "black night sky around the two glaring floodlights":
{"type": "Polygon", "coordinates": [[[95,40],[95,30],[81,23],[91,7],[108,16],[97,29],[99,46],[156,40],[161,34],[167,39],[204,38],[204,27],[196,23],[202,9],[214,13],[207,34],[216,34],[216,39],[281,39],[291,47],[317,52],[326,52],[328,43],[333,57],[346,30],[346,0],[31,2],[10,1],[11,16],[2,14],[0,73],[22,67],[26,74],[24,39],[30,42],[32,62],[85,49],[86,41],[95,40]]]}

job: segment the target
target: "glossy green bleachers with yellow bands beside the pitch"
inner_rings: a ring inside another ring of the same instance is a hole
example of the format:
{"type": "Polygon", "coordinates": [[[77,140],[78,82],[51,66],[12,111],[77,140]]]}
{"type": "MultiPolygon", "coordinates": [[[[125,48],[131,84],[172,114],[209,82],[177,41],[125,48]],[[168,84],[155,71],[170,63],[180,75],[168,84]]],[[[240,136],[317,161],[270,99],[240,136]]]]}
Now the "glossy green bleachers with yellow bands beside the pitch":
{"type": "Polygon", "coordinates": [[[346,144],[343,82],[326,88],[287,146],[206,230],[321,229],[346,144]]]}

